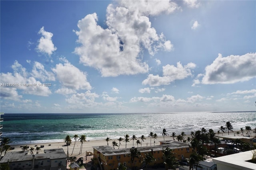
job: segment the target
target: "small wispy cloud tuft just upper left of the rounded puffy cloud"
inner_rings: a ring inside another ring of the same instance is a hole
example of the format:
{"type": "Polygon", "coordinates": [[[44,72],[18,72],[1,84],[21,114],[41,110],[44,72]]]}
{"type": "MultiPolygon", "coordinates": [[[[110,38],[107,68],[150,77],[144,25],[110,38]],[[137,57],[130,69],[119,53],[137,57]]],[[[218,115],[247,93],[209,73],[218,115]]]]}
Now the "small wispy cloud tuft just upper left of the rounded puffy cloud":
{"type": "Polygon", "coordinates": [[[54,74],[52,72],[46,71],[44,69],[44,65],[37,61],[34,63],[31,74],[32,76],[42,80],[43,82],[45,82],[46,80],[55,81],[54,74]]]}

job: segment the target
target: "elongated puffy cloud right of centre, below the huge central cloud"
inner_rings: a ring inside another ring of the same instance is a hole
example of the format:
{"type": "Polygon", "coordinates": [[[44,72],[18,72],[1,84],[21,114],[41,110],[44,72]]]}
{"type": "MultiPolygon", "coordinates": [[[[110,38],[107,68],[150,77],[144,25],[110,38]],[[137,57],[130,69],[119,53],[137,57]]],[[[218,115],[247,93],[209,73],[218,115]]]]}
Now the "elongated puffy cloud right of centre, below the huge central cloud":
{"type": "Polygon", "coordinates": [[[194,63],[188,63],[187,65],[182,66],[180,62],[177,63],[177,66],[169,65],[163,66],[163,76],[149,74],[148,78],[143,80],[143,85],[150,86],[161,86],[168,85],[174,80],[182,80],[188,76],[192,76],[192,69],[196,67],[194,63]]]}

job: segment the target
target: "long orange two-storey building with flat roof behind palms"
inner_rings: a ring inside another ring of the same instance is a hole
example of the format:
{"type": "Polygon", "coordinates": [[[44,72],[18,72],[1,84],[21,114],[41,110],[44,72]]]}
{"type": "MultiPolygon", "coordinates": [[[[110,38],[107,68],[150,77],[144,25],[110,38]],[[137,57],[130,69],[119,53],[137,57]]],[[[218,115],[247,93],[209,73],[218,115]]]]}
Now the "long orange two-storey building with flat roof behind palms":
{"type": "MultiPolygon", "coordinates": [[[[161,141],[160,143],[164,143],[161,141]]],[[[135,158],[132,164],[130,155],[130,148],[127,149],[113,149],[110,146],[96,146],[93,147],[94,158],[98,159],[98,163],[101,165],[101,170],[116,170],[120,164],[126,167],[143,168],[143,163],[146,153],[152,153],[156,161],[152,162],[151,166],[164,166],[163,152],[166,148],[172,149],[178,160],[189,158],[192,150],[189,145],[177,141],[169,141],[168,144],[149,146],[149,147],[136,147],[141,156],[135,158]]]]}

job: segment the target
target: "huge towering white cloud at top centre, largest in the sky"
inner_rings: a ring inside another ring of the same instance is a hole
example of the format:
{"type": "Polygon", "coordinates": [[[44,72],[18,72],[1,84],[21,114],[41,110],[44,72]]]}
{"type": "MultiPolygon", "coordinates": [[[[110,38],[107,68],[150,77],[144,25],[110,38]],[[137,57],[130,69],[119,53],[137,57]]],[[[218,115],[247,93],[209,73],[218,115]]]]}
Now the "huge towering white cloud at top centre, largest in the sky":
{"type": "Polygon", "coordinates": [[[173,12],[178,6],[168,1],[118,3],[107,8],[106,29],[98,25],[96,13],[78,21],[79,31],[75,32],[81,45],[74,52],[80,56],[80,63],[97,68],[105,77],[146,73],[149,66],[142,61],[144,49],[154,55],[158,50],[173,48],[162,33],[156,33],[148,16],[173,12]]]}

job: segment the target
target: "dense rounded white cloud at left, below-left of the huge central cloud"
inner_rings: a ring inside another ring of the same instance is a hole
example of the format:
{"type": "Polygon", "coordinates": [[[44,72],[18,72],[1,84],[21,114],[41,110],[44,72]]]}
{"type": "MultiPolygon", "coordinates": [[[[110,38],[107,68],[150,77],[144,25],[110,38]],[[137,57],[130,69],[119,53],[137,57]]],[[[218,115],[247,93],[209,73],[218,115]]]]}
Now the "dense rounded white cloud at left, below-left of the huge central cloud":
{"type": "Polygon", "coordinates": [[[70,63],[56,64],[52,71],[56,74],[57,79],[65,88],[73,90],[86,89],[90,90],[92,87],[87,82],[86,73],[80,71],[77,67],[70,63]]]}

